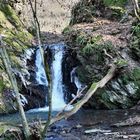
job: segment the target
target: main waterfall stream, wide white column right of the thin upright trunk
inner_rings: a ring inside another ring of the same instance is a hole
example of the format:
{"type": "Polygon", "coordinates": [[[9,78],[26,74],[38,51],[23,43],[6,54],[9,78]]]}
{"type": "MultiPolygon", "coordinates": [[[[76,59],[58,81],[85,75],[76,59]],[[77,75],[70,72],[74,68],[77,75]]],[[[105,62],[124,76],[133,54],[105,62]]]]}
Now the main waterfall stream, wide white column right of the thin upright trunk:
{"type": "Polygon", "coordinates": [[[64,45],[57,44],[51,48],[54,54],[52,62],[52,108],[58,110],[63,108],[66,103],[64,101],[63,84],[62,84],[62,60],[64,53],[64,45]]]}

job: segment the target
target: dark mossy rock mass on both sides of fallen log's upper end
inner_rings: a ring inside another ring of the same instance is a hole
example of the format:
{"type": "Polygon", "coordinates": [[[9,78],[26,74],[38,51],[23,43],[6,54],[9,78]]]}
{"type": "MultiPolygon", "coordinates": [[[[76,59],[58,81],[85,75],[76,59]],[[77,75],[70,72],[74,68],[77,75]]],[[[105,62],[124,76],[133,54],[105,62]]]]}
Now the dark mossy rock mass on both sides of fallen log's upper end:
{"type": "Polygon", "coordinates": [[[107,64],[114,63],[119,68],[115,77],[104,88],[97,90],[86,106],[96,109],[126,109],[134,106],[140,100],[140,68],[134,62],[133,68],[129,70],[131,58],[126,60],[120,57],[123,51],[128,53],[127,50],[121,52],[119,46],[115,47],[108,41],[103,43],[102,36],[81,31],[73,31],[71,34],[71,47],[75,47],[80,61],[76,72],[82,83],[89,86],[100,81],[108,72],[107,64]]]}

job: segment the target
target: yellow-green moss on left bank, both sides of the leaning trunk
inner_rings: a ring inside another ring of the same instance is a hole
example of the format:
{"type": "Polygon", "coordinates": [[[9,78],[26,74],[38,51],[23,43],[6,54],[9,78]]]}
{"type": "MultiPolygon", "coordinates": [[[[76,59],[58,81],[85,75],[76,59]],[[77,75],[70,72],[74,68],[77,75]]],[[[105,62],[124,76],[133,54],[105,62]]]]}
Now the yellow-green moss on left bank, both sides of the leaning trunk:
{"type": "MultiPolygon", "coordinates": [[[[33,36],[25,29],[14,9],[3,0],[0,0],[0,34],[5,35],[4,44],[11,58],[12,67],[21,70],[20,55],[30,46],[33,36]]],[[[2,61],[0,61],[0,93],[4,88],[11,88],[2,61]],[[2,76],[3,75],[3,76],[2,76]]]]}

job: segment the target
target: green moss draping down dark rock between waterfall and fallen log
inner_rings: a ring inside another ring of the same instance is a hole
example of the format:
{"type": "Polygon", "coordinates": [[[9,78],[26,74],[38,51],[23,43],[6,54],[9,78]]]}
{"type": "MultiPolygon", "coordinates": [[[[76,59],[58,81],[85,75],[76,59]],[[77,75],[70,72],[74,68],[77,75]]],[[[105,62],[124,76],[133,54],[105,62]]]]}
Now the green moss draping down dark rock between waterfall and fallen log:
{"type": "MultiPolygon", "coordinates": [[[[115,48],[111,42],[102,42],[102,36],[93,36],[84,32],[77,33],[73,39],[75,46],[78,46],[77,58],[80,60],[81,66],[78,67],[77,73],[81,82],[91,84],[93,81],[97,82],[102,78],[102,74],[97,74],[98,70],[95,67],[104,67],[107,53],[115,56],[115,48]],[[85,74],[86,73],[86,74],[85,74]]],[[[104,71],[105,72],[105,71],[104,71]]]]}

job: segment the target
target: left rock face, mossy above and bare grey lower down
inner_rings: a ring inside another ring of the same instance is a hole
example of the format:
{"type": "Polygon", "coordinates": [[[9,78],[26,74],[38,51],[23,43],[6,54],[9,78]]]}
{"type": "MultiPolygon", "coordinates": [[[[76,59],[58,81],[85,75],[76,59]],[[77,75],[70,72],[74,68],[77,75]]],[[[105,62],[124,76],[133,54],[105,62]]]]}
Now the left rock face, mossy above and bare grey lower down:
{"type": "MultiPolygon", "coordinates": [[[[25,50],[32,45],[32,35],[18,18],[11,1],[0,0],[0,36],[11,59],[13,73],[18,77],[27,75],[25,62],[22,59],[25,50]]],[[[21,83],[21,82],[20,82],[21,83]]],[[[21,84],[18,84],[21,88],[21,84]]],[[[0,59],[0,113],[16,109],[14,93],[0,59]]]]}

